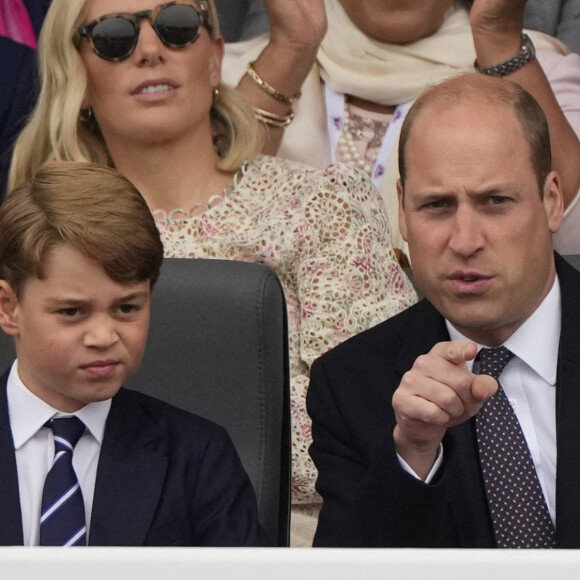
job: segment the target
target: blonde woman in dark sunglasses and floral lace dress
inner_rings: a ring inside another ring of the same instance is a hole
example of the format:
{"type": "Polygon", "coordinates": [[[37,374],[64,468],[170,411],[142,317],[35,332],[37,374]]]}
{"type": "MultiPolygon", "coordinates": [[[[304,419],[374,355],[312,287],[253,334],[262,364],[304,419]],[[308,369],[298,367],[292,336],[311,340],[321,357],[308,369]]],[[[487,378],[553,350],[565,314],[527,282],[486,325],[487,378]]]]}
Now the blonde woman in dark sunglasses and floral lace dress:
{"type": "Polygon", "coordinates": [[[213,2],[158,1],[54,0],[40,39],[41,95],[10,179],[20,182],[49,159],[114,165],[143,194],[166,256],[276,270],[289,314],[293,504],[314,516],[310,365],[412,304],[415,293],[361,172],[258,154],[254,112],[221,83],[213,2]]]}

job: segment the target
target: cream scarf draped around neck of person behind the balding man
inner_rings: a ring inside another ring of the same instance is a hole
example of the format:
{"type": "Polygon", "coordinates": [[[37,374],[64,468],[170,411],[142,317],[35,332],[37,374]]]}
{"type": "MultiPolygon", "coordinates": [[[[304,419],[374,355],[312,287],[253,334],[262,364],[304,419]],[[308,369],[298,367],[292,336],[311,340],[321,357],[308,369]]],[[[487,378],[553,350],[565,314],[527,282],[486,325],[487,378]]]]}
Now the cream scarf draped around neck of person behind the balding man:
{"type": "MultiPolygon", "coordinates": [[[[328,33],[318,52],[320,74],[338,93],[382,105],[413,101],[428,86],[473,72],[475,49],[469,12],[456,2],[441,28],[410,44],[387,44],[361,32],[338,0],[325,0],[328,33]]],[[[539,32],[528,32],[536,48],[566,54],[563,44],[539,32]]]]}

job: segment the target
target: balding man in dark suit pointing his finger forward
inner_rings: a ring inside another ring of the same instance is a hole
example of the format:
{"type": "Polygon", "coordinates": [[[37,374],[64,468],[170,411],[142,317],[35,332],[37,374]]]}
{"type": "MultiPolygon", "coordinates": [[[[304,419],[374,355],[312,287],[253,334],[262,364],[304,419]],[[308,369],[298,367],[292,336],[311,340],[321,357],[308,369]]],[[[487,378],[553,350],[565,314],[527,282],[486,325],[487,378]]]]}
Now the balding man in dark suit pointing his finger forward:
{"type": "Polygon", "coordinates": [[[506,79],[447,81],[410,110],[399,164],[401,231],[426,299],[312,368],[315,545],[579,547],[580,273],[552,251],[563,202],[542,110],[506,79]],[[485,352],[508,352],[502,390],[477,374],[485,352]],[[525,439],[492,445],[495,470],[484,443],[507,427],[480,425],[502,393],[525,439]],[[509,508],[494,490],[515,494],[509,508]]]}

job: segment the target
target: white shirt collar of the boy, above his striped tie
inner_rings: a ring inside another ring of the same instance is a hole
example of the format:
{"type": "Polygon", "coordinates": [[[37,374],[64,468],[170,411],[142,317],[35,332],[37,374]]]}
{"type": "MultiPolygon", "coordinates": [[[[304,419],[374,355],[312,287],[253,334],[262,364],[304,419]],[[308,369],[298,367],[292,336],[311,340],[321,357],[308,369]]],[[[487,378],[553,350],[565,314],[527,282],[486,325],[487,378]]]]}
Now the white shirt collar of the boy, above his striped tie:
{"type": "Polygon", "coordinates": [[[18,375],[18,360],[14,361],[10,369],[6,395],[15,449],[19,449],[31,437],[34,437],[53,417],[67,415],[76,415],[86,425],[87,430],[99,445],[103,443],[111,399],[88,403],[74,413],[61,413],[26,388],[18,375]]]}

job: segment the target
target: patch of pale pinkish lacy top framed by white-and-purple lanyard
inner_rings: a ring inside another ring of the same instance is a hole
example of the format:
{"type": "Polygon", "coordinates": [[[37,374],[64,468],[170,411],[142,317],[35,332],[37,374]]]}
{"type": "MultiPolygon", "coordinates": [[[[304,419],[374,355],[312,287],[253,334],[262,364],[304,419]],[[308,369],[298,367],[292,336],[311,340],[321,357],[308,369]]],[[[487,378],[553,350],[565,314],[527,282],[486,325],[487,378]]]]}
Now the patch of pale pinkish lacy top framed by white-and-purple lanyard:
{"type": "Polygon", "coordinates": [[[358,167],[367,175],[371,175],[377,160],[378,148],[387,132],[389,121],[390,116],[387,120],[376,120],[353,114],[350,111],[350,105],[345,103],[342,131],[337,146],[340,161],[358,167]],[[357,142],[361,141],[366,144],[364,154],[361,154],[357,146],[357,142]]]}

